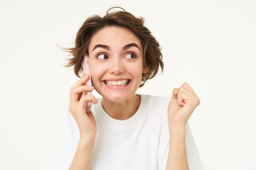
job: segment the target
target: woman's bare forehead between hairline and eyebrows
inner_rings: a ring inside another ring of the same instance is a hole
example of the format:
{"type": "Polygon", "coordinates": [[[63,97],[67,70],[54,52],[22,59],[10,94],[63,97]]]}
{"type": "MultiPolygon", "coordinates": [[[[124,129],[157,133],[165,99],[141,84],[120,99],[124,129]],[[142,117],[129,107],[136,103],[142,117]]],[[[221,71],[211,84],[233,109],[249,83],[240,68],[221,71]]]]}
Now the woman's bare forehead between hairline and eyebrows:
{"type": "Polygon", "coordinates": [[[91,51],[96,44],[117,47],[125,46],[129,43],[136,43],[140,49],[142,49],[138,36],[132,31],[123,27],[108,26],[100,29],[92,36],[89,44],[89,51],[91,51]]]}

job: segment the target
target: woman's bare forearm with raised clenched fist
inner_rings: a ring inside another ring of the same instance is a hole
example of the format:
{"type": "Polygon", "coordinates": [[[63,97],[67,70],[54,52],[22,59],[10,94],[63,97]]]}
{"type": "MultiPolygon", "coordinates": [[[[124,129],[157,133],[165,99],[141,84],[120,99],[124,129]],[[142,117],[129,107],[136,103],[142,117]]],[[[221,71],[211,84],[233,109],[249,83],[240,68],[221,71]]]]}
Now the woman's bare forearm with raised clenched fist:
{"type": "Polygon", "coordinates": [[[168,106],[170,147],[166,170],[189,170],[185,125],[199,103],[199,98],[187,83],[173,90],[168,106]]]}

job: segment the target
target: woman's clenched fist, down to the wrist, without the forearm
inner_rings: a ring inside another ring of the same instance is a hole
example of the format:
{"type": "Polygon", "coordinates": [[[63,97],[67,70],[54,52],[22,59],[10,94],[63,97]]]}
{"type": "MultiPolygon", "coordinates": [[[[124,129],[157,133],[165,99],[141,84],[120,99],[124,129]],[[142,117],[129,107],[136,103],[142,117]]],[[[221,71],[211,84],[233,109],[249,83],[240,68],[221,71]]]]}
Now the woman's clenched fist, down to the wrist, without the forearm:
{"type": "Polygon", "coordinates": [[[188,83],[174,88],[168,106],[169,125],[185,127],[186,122],[199,104],[200,99],[188,83]]]}

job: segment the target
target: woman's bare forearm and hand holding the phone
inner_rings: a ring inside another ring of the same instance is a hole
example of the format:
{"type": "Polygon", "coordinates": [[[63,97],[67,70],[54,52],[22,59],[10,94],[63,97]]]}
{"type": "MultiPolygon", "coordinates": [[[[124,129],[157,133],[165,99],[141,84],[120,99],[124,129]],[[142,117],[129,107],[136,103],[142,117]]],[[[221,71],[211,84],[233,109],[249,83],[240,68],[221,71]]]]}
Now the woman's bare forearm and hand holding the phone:
{"type": "Polygon", "coordinates": [[[70,89],[69,111],[76,120],[79,127],[80,139],[77,151],[69,170],[90,170],[97,124],[93,113],[86,112],[86,102],[97,103],[93,95],[83,95],[83,91],[92,91],[93,87],[84,85],[89,80],[88,75],[82,76],[80,80],[70,89]]]}

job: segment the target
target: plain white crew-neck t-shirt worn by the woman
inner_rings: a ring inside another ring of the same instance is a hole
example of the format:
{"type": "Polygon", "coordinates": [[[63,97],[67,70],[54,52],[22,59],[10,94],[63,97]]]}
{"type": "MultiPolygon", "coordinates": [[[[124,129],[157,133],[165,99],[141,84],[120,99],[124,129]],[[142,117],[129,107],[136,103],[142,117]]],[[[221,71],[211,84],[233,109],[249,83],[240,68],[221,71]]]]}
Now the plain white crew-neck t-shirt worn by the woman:
{"type": "MultiPolygon", "coordinates": [[[[138,111],[129,119],[110,117],[93,104],[97,135],[91,170],[165,170],[169,152],[167,108],[170,99],[140,95],[138,111]]],[[[59,135],[47,170],[68,170],[79,142],[79,129],[67,111],[60,120],[59,135]]],[[[186,150],[190,170],[204,170],[197,147],[186,125],[186,150]]]]}

